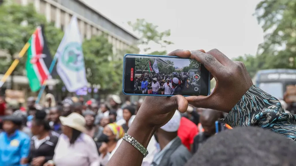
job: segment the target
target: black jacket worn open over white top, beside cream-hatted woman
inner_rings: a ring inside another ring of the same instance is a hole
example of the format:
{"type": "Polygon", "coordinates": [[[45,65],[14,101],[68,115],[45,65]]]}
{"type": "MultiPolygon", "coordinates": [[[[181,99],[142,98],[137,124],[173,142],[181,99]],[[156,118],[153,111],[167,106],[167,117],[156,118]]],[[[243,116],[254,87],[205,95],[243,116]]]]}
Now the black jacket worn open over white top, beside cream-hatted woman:
{"type": "Polygon", "coordinates": [[[28,157],[29,163],[33,160],[33,158],[40,157],[40,156],[45,157],[44,163],[46,163],[48,160],[52,160],[52,158],[54,157],[54,149],[57,145],[57,141],[59,140],[59,135],[54,131],[52,131],[49,134],[49,139],[43,142],[38,147],[38,149],[35,148],[34,139],[36,139],[36,137],[33,136],[31,139],[30,154],[28,157]]]}

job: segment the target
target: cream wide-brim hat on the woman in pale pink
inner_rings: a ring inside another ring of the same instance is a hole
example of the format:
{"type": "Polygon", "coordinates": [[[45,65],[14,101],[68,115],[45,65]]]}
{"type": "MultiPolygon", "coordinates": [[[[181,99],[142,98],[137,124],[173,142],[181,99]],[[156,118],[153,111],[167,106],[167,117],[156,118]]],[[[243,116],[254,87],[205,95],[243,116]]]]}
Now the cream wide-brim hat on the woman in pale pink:
{"type": "Polygon", "coordinates": [[[71,113],[67,117],[60,116],[59,120],[61,121],[62,125],[74,128],[78,131],[85,132],[85,124],[86,121],[82,115],[79,113],[71,113]]]}

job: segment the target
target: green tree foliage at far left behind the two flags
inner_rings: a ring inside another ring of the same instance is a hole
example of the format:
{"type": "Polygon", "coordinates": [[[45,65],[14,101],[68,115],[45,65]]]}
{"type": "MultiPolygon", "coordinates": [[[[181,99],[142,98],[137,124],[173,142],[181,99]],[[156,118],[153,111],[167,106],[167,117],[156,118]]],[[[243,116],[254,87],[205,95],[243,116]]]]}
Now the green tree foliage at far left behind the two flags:
{"type": "MultiPolygon", "coordinates": [[[[29,4],[3,4],[0,6],[0,49],[6,51],[10,56],[2,59],[1,71],[6,71],[12,63],[12,56],[20,52],[25,43],[39,25],[44,25],[45,36],[52,56],[54,56],[59,43],[62,40],[63,32],[47,23],[43,15],[38,14],[33,6],[29,4]]],[[[24,74],[26,54],[20,59],[15,74],[24,74]]]]}

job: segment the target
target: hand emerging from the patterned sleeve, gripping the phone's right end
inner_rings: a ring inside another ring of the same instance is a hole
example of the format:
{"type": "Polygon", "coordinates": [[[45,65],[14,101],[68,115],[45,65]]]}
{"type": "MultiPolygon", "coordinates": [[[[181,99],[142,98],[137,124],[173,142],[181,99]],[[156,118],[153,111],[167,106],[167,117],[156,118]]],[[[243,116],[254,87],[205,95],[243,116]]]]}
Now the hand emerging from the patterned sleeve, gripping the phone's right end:
{"type": "Polygon", "coordinates": [[[216,86],[209,96],[186,97],[198,108],[210,108],[228,113],[253,85],[252,79],[242,62],[231,61],[217,49],[205,53],[203,50],[176,50],[168,55],[191,58],[199,61],[215,78],[216,86]]]}

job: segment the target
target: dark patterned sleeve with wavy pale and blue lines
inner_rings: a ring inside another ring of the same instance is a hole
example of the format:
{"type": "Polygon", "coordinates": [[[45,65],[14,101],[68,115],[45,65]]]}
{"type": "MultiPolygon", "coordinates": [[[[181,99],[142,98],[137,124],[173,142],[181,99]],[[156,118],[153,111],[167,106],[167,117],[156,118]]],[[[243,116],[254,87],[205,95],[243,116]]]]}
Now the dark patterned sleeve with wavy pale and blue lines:
{"type": "Polygon", "coordinates": [[[255,85],[242,96],[224,122],[231,127],[267,128],[296,141],[296,115],[285,113],[279,100],[255,85]]]}

